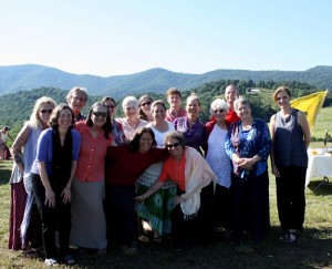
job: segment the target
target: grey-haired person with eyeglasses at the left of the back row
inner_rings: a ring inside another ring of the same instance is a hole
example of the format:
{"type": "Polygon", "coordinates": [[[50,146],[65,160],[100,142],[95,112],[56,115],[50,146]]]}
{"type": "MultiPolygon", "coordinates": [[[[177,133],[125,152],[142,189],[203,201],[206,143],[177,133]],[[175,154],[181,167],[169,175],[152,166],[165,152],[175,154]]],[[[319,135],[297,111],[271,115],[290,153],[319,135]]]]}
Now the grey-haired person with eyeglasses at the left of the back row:
{"type": "Polygon", "coordinates": [[[74,112],[75,122],[83,122],[86,120],[85,116],[81,114],[81,111],[84,108],[87,102],[87,92],[85,87],[74,86],[66,95],[66,102],[69,106],[74,112]]]}

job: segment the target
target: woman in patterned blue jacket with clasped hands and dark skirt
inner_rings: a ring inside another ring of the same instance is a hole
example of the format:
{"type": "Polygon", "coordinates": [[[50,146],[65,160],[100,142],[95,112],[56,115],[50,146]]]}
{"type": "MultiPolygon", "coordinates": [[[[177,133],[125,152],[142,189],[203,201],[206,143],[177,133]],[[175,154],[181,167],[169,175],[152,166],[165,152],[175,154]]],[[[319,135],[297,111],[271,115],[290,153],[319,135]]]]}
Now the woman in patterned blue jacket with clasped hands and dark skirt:
{"type": "Polygon", "coordinates": [[[268,157],[271,137],[264,121],[253,118],[249,102],[235,101],[239,122],[230,125],[226,152],[231,159],[232,221],[237,240],[248,232],[256,242],[270,226],[268,157]]]}

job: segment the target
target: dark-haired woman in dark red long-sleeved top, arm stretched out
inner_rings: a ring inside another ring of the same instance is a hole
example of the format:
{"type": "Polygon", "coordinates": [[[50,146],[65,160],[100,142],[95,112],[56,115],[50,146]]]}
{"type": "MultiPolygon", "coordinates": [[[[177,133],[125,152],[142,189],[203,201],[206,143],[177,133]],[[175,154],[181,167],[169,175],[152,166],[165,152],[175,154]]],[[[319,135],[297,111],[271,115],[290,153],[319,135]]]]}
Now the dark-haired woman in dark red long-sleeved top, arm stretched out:
{"type": "Polygon", "coordinates": [[[164,161],[168,153],[156,148],[152,128],[136,132],[129,144],[108,147],[106,157],[106,215],[110,244],[125,252],[137,249],[137,216],[135,213],[135,183],[154,163],[164,161]]]}

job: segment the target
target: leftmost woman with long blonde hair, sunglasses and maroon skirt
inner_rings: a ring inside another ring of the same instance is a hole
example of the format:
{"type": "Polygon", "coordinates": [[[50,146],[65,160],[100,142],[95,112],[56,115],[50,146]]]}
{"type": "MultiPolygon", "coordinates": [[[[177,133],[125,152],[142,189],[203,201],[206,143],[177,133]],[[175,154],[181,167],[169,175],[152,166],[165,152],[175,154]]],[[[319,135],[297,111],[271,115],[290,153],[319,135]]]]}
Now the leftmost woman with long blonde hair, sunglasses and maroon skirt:
{"type": "Polygon", "coordinates": [[[35,256],[31,247],[41,246],[40,216],[34,208],[31,167],[37,154],[37,142],[48,122],[55,102],[46,96],[35,101],[30,121],[25,122],[11,147],[14,161],[10,178],[11,210],[8,247],[23,249],[24,255],[35,256]]]}

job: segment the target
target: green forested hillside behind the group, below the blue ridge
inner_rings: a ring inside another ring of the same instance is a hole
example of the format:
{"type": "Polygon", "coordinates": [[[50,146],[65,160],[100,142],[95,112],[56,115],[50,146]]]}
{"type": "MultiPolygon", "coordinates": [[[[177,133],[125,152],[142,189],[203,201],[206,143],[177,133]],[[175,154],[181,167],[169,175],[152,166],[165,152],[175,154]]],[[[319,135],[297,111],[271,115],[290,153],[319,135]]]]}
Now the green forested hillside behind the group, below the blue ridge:
{"type": "MultiPolygon", "coordinates": [[[[246,95],[252,108],[252,114],[256,117],[263,118],[266,121],[270,120],[270,116],[276,112],[277,107],[272,102],[272,92],[279,85],[288,85],[291,87],[293,97],[300,97],[314,93],[318,90],[314,86],[300,83],[300,82],[273,82],[273,81],[260,81],[257,84],[253,81],[240,81],[240,80],[221,80],[217,82],[206,83],[199,87],[191,89],[190,91],[183,91],[183,103],[185,103],[186,97],[190,93],[197,93],[201,101],[201,113],[200,120],[206,123],[209,117],[210,103],[218,96],[224,97],[225,89],[229,84],[235,84],[240,90],[242,95],[246,95]],[[251,89],[259,89],[259,92],[250,92],[251,89]]],[[[34,102],[37,99],[45,95],[54,99],[56,103],[66,102],[65,96],[68,91],[53,87],[41,87],[34,89],[32,91],[21,91],[13,94],[4,94],[0,96],[0,127],[8,125],[12,128],[11,133],[15,134],[22,126],[23,122],[29,120],[32,112],[34,102]]],[[[136,94],[139,97],[142,94],[136,94]]],[[[166,102],[165,94],[160,93],[149,93],[154,99],[162,99],[166,102]]],[[[83,111],[84,114],[87,113],[90,106],[101,100],[101,95],[90,95],[89,102],[83,111]]],[[[123,116],[122,103],[123,99],[116,99],[117,101],[117,116],[123,116]]],[[[330,105],[332,100],[331,92],[328,95],[325,105],[330,105]]],[[[168,106],[168,104],[167,104],[168,106]]]]}

